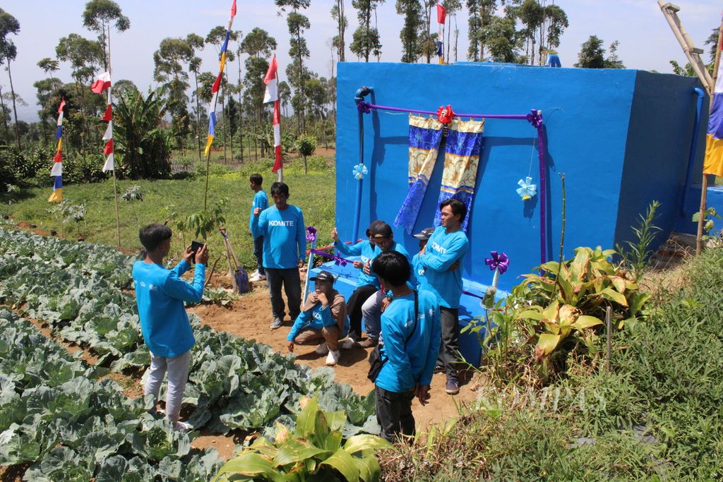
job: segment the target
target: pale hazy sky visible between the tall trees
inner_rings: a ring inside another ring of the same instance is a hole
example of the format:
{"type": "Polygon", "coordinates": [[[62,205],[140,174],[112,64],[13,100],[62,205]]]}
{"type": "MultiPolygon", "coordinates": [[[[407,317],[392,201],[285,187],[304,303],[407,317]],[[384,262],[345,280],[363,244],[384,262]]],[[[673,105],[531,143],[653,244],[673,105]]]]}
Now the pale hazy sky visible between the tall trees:
{"type": "MultiPolygon", "coordinates": [[[[111,37],[111,59],[114,79],[132,80],[141,90],[155,87],[153,81],[153,52],[166,37],[185,37],[189,33],[205,35],[217,25],[226,25],[231,0],[116,0],[123,13],[129,17],[131,27],[124,33],[114,32],[111,37]]],[[[547,0],[552,3],[553,0],[547,0]]],[[[351,1],[346,2],[349,27],[347,46],[356,29],[356,12],[351,1]]],[[[463,1],[463,3],[465,3],[463,1]]],[[[680,44],[670,30],[655,0],[554,0],[568,15],[570,26],[562,34],[560,53],[562,66],[573,66],[581,44],[589,35],[597,35],[609,46],[614,40],[620,42],[617,54],[628,69],[656,70],[671,73],[670,60],[683,65],[686,62],[680,44]]],[[[718,27],[723,3],[720,0],[676,0],[680,7],[678,16],[696,47],[705,48],[704,61],[708,62],[708,46],[703,42],[718,27]]],[[[336,33],[335,21],[330,9],[335,0],[311,0],[305,14],[311,22],[306,38],[311,57],[308,66],[323,77],[332,73],[330,39],[336,33]]],[[[44,57],[55,58],[59,38],[77,33],[86,38],[95,34],[82,26],[85,1],[65,0],[62,3],[49,0],[4,0],[2,4],[9,14],[20,22],[19,35],[11,35],[17,46],[17,59],[11,64],[15,91],[27,102],[18,106],[18,119],[36,121],[38,106],[33,82],[47,77],[36,65],[44,57]],[[62,7],[60,7],[62,5],[62,7]]],[[[399,30],[402,17],[395,11],[395,0],[386,0],[377,11],[377,26],[382,42],[382,62],[401,59],[399,30]]],[[[458,60],[466,60],[467,14],[457,16],[459,34],[458,60]]],[[[278,42],[277,58],[281,80],[285,79],[288,64],[288,30],[286,17],[279,16],[273,0],[237,0],[234,30],[245,35],[254,27],[267,30],[278,42]]],[[[437,28],[432,24],[432,31],[437,28]]],[[[235,46],[229,46],[229,50],[235,46]]],[[[202,70],[218,72],[218,56],[213,46],[200,53],[202,70]]],[[[356,56],[346,52],[347,61],[356,56]]],[[[5,67],[5,66],[4,66],[5,67]]],[[[229,80],[236,82],[238,64],[227,66],[229,80]]],[[[241,72],[241,75],[244,73],[241,72]]],[[[68,64],[61,64],[56,77],[71,82],[68,64]]],[[[9,91],[7,72],[0,72],[3,92],[9,91]]]]}

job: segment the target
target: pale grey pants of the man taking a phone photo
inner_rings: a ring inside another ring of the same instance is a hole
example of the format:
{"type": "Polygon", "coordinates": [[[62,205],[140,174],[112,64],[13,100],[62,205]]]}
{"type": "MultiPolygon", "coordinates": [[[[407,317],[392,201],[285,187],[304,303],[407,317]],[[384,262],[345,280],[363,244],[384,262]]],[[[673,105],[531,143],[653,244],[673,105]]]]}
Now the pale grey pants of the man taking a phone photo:
{"type": "Polygon", "coordinates": [[[186,390],[188,381],[188,370],[191,362],[191,350],[183,355],[174,358],[155,356],[150,354],[150,368],[148,379],[145,382],[143,392],[145,395],[153,395],[158,401],[158,394],[161,392],[163,376],[168,372],[168,390],[166,390],[166,418],[172,423],[179,421],[181,413],[181,401],[186,390]]]}

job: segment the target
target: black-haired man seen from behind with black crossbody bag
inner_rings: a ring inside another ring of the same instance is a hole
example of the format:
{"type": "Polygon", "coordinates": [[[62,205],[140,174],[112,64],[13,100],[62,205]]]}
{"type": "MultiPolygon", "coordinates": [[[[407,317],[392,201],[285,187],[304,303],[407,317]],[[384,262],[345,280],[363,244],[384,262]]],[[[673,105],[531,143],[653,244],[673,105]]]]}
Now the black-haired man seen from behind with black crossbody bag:
{"type": "Polygon", "coordinates": [[[386,251],[372,266],[382,285],[393,293],[393,301],[382,314],[380,356],[384,364],[375,380],[381,436],[393,442],[399,434],[414,436],[412,398],[416,396],[422,405],[429,400],[440,349],[440,309],[433,293],[408,287],[411,269],[403,254],[386,251]]]}

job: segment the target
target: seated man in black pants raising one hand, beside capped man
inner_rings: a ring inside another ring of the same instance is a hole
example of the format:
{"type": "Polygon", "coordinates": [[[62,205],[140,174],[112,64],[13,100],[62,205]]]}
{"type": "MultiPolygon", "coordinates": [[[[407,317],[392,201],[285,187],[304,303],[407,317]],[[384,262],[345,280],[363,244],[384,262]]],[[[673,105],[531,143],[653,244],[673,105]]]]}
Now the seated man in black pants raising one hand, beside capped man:
{"type": "Polygon", "coordinates": [[[364,301],[367,301],[369,296],[372,296],[375,291],[380,287],[377,276],[372,273],[370,264],[372,260],[377,256],[375,246],[372,243],[372,227],[382,221],[376,220],[367,228],[367,238],[359,243],[348,245],[344,244],[339,239],[339,233],[336,228],[331,230],[331,238],[334,240],[334,248],[339,251],[342,256],[359,256],[361,261],[355,261],[354,267],[361,270],[359,277],[356,278],[356,288],[354,292],[349,296],[346,302],[346,313],[349,315],[349,335],[344,343],[341,344],[341,348],[348,350],[356,346],[356,343],[361,340],[361,305],[364,301]]]}

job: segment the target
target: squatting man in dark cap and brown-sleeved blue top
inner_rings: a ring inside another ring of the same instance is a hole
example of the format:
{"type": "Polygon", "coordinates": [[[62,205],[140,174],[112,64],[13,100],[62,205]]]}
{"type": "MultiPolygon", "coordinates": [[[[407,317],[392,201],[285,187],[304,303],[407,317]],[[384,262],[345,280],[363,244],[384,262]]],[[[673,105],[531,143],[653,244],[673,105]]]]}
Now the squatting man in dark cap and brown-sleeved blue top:
{"type": "Polygon", "coordinates": [[[349,318],[346,316],[344,297],[333,288],[334,275],[321,271],[309,278],[315,282],[314,291],[309,293],[304,307],[296,317],[294,326],[288,332],[288,350],[294,352],[294,345],[316,345],[324,340],[316,353],[326,355],[326,364],[334,366],[339,361],[339,340],[346,337],[349,318]]]}

